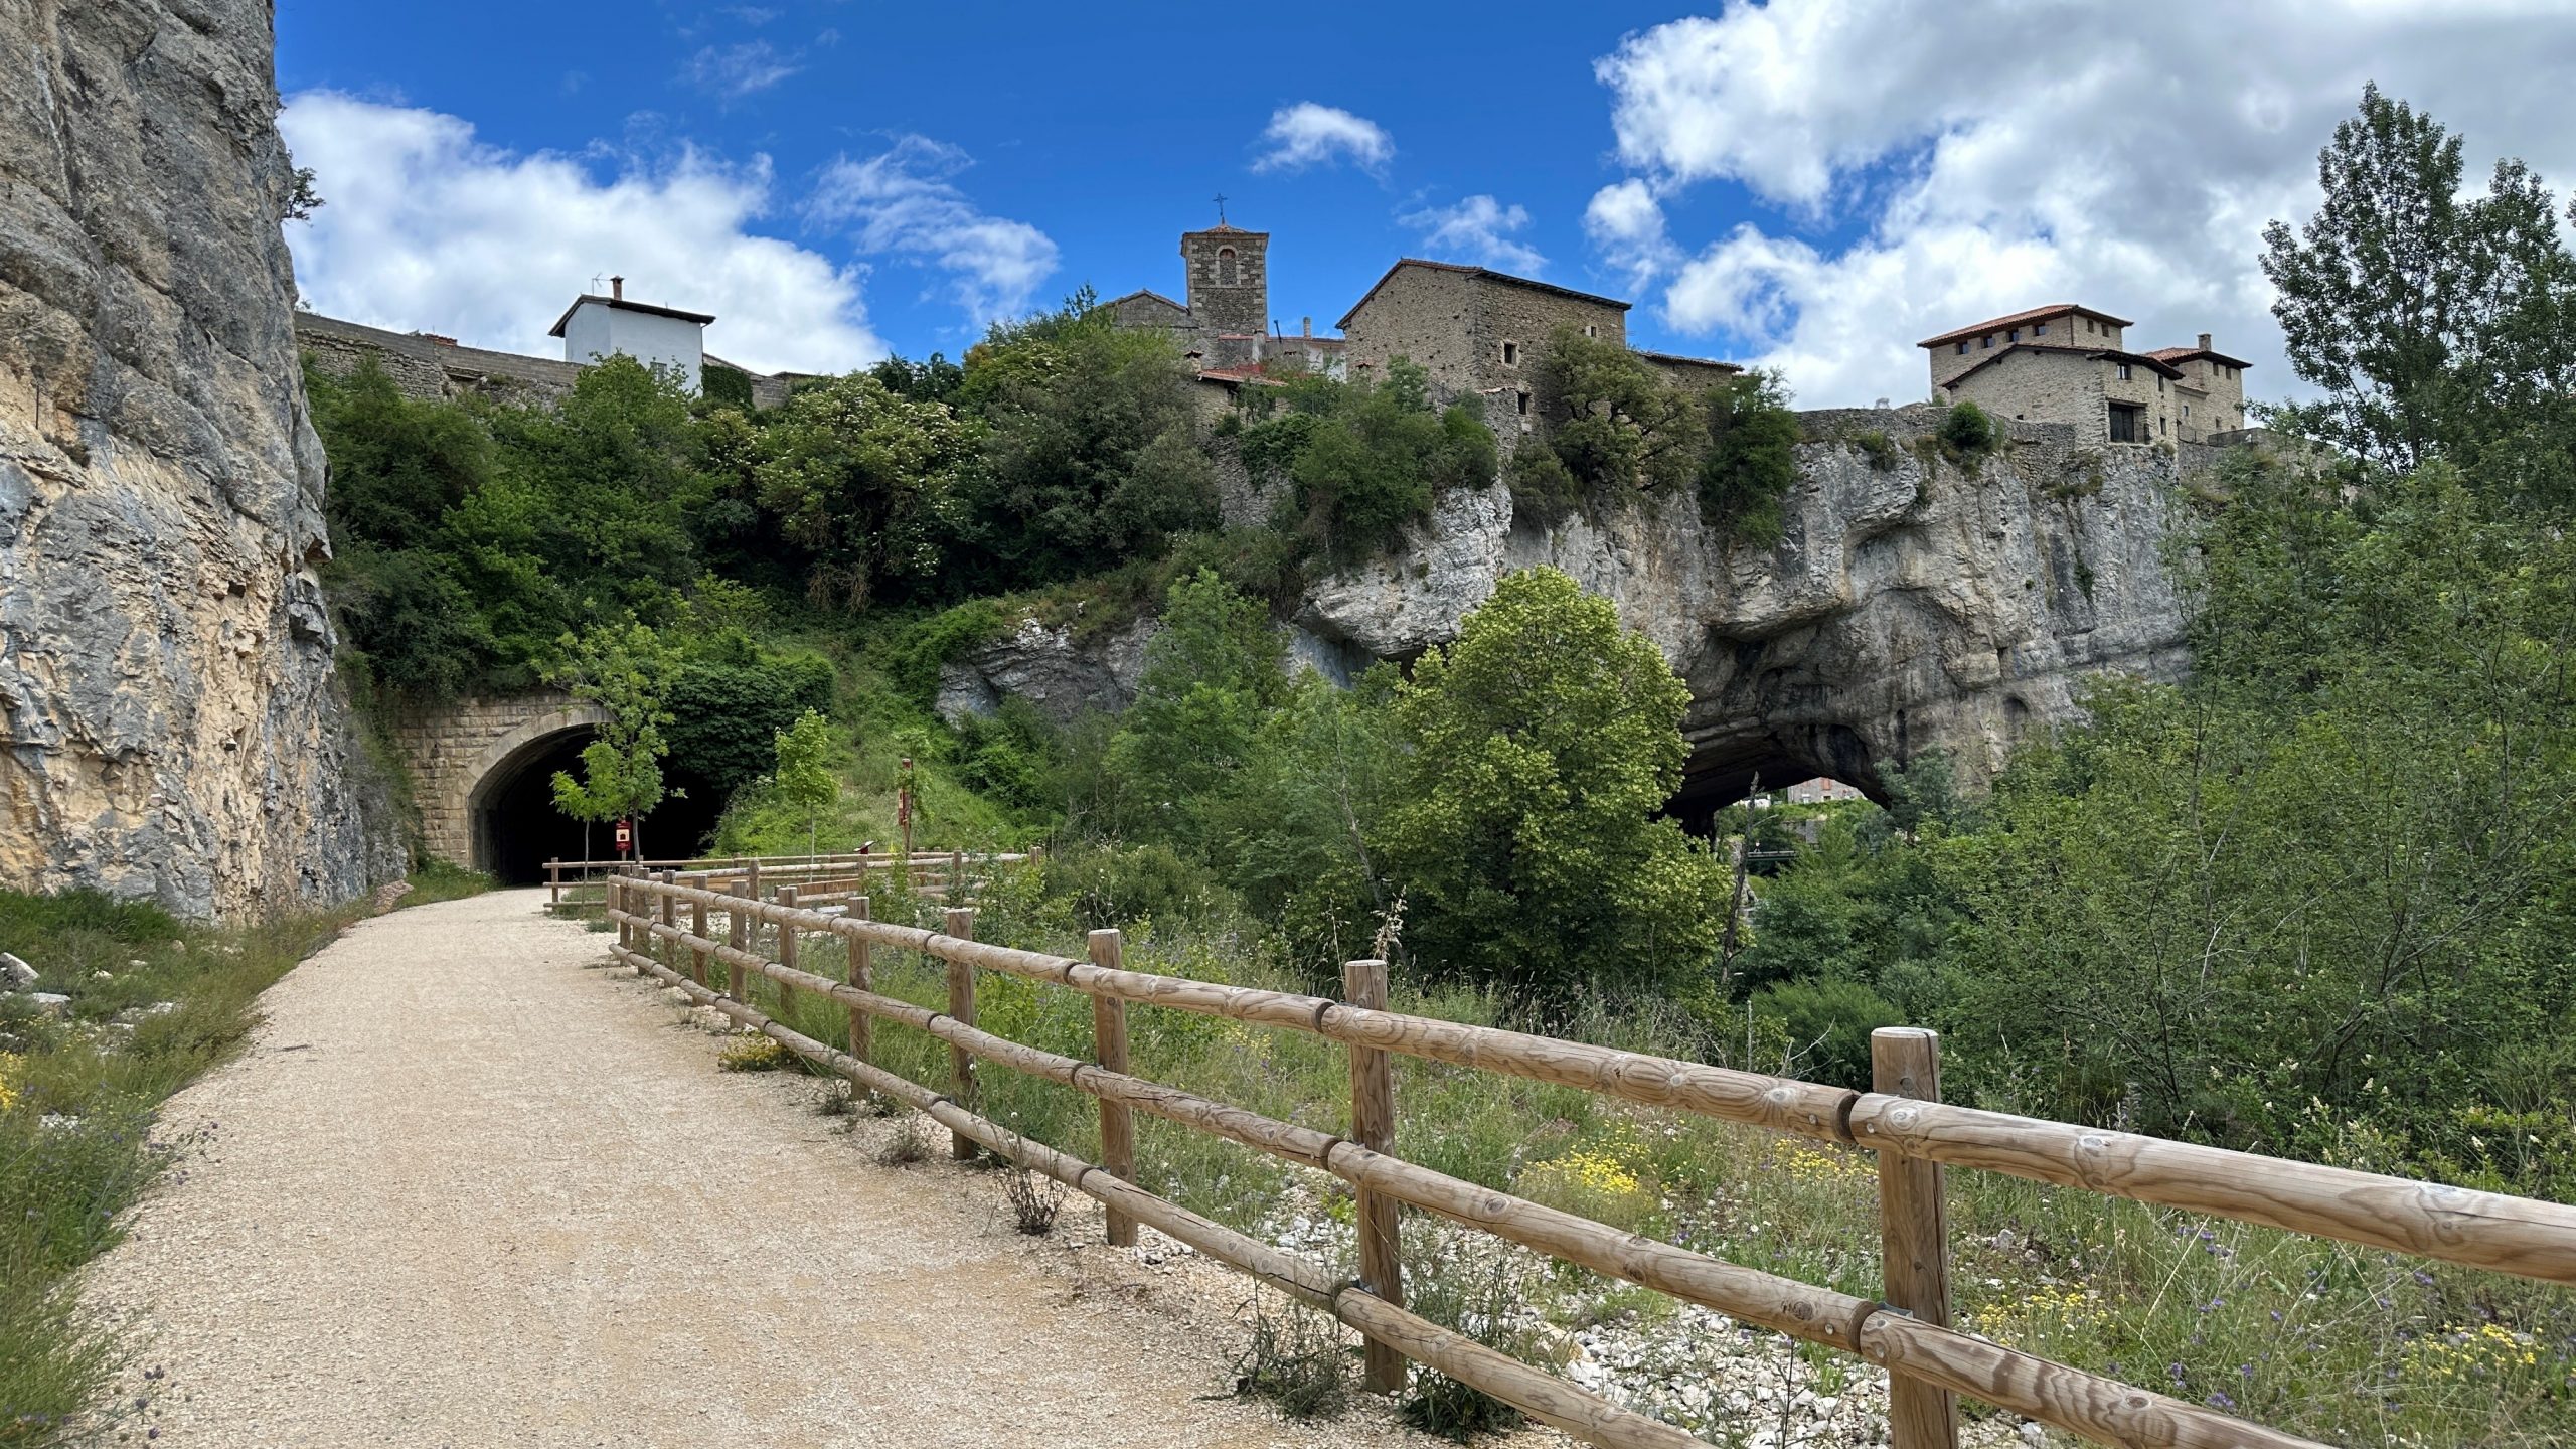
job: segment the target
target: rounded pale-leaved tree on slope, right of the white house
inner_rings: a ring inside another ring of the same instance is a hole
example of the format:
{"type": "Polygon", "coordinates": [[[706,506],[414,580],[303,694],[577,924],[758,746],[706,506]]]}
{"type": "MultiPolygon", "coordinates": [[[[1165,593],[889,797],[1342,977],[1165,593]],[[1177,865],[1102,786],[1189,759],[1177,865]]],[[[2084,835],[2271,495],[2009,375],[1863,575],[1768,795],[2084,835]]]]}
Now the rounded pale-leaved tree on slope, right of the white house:
{"type": "Polygon", "coordinates": [[[806,559],[806,598],[863,608],[927,588],[951,531],[948,490],[969,431],[866,374],[799,389],[760,428],[760,505],[806,559]]]}

